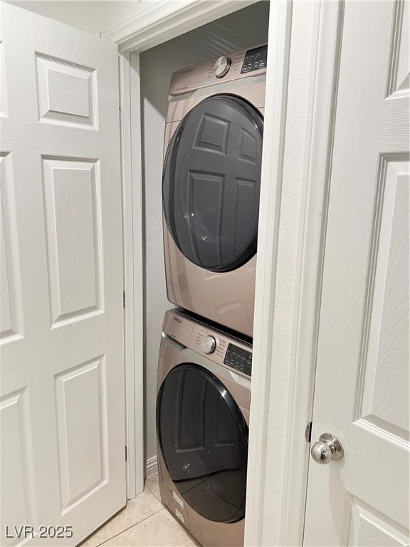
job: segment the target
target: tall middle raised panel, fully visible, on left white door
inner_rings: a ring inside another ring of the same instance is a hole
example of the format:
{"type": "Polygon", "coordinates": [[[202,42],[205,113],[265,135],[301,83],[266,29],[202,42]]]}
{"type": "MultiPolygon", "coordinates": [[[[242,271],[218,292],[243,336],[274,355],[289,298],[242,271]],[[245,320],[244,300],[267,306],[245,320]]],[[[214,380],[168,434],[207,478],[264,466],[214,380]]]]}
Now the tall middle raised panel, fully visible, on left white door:
{"type": "Polygon", "coordinates": [[[43,158],[48,273],[54,325],[100,309],[98,162],[43,158]]]}

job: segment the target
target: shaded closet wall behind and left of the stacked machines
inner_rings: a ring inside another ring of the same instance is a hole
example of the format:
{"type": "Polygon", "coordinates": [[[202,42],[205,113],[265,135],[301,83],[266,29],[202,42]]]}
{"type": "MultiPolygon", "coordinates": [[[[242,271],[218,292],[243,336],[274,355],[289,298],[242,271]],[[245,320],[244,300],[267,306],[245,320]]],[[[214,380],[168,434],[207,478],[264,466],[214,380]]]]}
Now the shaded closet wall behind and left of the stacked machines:
{"type": "Polygon", "coordinates": [[[142,147],[145,244],[145,449],[147,459],[157,453],[155,398],[157,361],[167,301],[162,250],[162,154],[167,91],[174,71],[222,53],[267,41],[267,1],[253,4],[196,28],[141,54],[142,147]]]}

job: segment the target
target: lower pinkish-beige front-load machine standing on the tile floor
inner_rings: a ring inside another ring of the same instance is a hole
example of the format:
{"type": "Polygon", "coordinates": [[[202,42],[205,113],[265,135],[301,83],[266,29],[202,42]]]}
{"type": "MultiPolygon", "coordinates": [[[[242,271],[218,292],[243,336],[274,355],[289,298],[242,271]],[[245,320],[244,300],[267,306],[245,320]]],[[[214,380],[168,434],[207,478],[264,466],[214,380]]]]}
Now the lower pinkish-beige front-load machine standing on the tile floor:
{"type": "Polygon", "coordinates": [[[167,311],[159,350],[162,503],[204,547],[243,546],[252,346],[167,311]]]}

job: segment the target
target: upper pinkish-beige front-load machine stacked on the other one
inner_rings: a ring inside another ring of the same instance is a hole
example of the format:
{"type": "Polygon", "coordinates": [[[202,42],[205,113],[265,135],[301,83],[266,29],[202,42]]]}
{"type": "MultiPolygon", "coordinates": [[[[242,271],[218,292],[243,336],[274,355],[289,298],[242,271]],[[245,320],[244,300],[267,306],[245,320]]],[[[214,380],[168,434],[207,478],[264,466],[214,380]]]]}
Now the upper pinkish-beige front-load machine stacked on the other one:
{"type": "Polygon", "coordinates": [[[267,46],[174,73],[162,198],[169,301],[253,335],[267,46]]]}

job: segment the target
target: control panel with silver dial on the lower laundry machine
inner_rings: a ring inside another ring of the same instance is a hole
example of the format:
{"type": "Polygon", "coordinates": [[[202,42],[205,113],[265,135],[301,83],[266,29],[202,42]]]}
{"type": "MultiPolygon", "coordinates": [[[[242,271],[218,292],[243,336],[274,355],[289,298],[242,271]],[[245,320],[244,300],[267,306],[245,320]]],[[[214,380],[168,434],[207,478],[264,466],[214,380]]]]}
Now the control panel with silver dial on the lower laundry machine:
{"type": "Polygon", "coordinates": [[[177,310],[167,311],[163,331],[170,338],[214,363],[231,368],[238,374],[251,376],[252,346],[243,340],[234,338],[223,330],[208,327],[177,310]]]}

